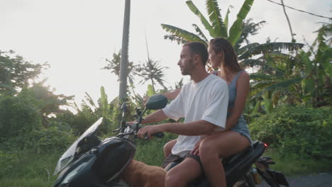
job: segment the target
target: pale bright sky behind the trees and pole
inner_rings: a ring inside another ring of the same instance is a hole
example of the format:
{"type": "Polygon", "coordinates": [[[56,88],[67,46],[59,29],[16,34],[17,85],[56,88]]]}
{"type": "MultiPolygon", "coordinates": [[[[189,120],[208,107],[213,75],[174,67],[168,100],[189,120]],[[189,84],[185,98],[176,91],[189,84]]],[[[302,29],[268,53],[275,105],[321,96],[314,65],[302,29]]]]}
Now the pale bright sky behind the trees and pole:
{"type": "MultiPolygon", "coordinates": [[[[243,1],[218,1],[221,15],[225,16],[231,5],[229,23],[233,23],[243,1]]],[[[205,1],[193,2],[207,18],[205,1]]],[[[97,101],[100,87],[104,86],[110,101],[118,96],[117,77],[101,68],[107,64],[106,58],[111,60],[113,53],[121,50],[124,4],[124,0],[0,0],[0,50],[14,50],[29,62],[48,62],[50,68],[43,72],[41,79],[48,78],[46,84],[56,90],[55,94],[74,95],[77,103],[81,103],[87,91],[97,101]]],[[[284,0],[284,4],[332,17],[330,0],[284,0]]],[[[320,22],[328,22],[326,18],[289,8],[286,11],[297,42],[304,42],[306,38],[311,44],[320,22]]],[[[249,38],[250,42],[263,43],[268,37],[272,41],[291,41],[282,6],[255,0],[247,18],[253,18],[255,23],[267,21],[258,35],[249,38]]],[[[165,70],[169,87],[182,78],[177,67],[182,47],[164,39],[167,33],[161,23],[193,33],[193,23],[205,29],[185,1],[131,0],[129,61],[142,64],[148,59],[146,34],[150,58],[169,67],[165,70]]],[[[189,77],[184,77],[184,82],[188,80],[189,77]]],[[[140,85],[138,81],[137,77],[135,91],[143,94],[147,84],[140,85]]]]}

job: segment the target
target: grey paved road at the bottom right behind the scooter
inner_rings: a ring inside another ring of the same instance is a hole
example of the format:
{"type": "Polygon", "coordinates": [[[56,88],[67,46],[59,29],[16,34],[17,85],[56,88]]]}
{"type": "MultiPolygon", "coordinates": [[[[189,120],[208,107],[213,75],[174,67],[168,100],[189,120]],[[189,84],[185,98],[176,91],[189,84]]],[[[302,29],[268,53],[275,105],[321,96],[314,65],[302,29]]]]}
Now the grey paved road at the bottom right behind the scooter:
{"type": "MultiPolygon", "coordinates": [[[[332,174],[317,174],[287,178],[290,187],[332,187],[332,174]]],[[[269,187],[262,182],[260,187],[269,187]]]]}

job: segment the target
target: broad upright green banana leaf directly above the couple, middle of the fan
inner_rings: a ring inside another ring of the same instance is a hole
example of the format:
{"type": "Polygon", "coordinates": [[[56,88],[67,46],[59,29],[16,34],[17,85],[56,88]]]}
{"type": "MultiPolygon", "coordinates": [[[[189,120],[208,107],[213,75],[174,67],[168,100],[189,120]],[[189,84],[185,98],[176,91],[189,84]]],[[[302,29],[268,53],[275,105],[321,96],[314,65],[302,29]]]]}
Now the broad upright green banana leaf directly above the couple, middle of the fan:
{"type": "Polygon", "coordinates": [[[223,23],[223,19],[221,18],[220,8],[218,6],[217,0],[206,0],[206,9],[209,14],[209,19],[211,22],[212,28],[214,28],[214,38],[223,37],[228,38],[228,30],[223,23]]]}

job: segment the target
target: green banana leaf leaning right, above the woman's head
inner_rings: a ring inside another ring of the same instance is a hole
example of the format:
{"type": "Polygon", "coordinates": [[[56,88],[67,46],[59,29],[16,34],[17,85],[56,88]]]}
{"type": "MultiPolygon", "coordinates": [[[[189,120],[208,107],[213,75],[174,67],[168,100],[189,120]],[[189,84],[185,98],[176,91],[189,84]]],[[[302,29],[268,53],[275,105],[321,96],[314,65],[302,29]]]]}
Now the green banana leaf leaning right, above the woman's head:
{"type": "Polygon", "coordinates": [[[253,6],[254,0],[245,0],[242,7],[240,8],[240,11],[238,12],[236,21],[234,21],[233,25],[231,26],[231,29],[229,30],[229,37],[228,41],[231,42],[231,45],[235,45],[238,41],[238,38],[240,38],[240,35],[242,33],[242,23],[245,20],[245,17],[248,15],[251,6],[253,6]]]}

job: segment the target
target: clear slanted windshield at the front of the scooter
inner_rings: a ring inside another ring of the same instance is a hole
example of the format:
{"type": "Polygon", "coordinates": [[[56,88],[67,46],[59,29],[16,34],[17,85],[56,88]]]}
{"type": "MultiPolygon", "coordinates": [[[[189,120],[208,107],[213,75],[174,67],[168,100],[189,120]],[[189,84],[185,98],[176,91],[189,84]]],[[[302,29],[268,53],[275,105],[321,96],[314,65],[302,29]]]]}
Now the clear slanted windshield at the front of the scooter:
{"type": "Polygon", "coordinates": [[[62,154],[59,161],[57,162],[57,166],[55,166],[54,175],[64,169],[68,164],[70,164],[72,159],[74,159],[74,154],[76,152],[79,141],[81,141],[84,137],[92,135],[92,133],[96,131],[102,121],[103,118],[99,118],[99,120],[97,120],[94,125],[91,125],[91,127],[88,128],[79,138],[77,138],[77,140],[67,149],[67,151],[62,154]]]}

